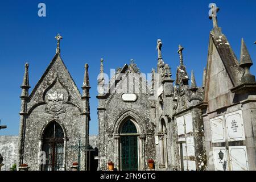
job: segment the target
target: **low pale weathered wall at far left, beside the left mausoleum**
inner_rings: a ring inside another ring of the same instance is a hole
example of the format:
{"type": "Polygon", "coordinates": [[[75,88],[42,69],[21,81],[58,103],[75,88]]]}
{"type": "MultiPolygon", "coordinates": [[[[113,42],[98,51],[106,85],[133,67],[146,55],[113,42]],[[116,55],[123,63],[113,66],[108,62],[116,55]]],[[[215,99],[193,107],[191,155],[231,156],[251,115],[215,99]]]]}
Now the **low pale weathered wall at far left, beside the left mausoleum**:
{"type": "Polygon", "coordinates": [[[0,136],[0,154],[3,156],[2,171],[9,171],[17,164],[18,136],[0,136]]]}

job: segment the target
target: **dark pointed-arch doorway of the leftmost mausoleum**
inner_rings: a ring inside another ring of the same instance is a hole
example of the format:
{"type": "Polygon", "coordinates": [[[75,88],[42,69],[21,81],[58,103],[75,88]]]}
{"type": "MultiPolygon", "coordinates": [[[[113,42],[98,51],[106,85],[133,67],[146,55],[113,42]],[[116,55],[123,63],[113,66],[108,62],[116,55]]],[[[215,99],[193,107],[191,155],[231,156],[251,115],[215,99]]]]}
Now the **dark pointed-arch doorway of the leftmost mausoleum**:
{"type": "Polygon", "coordinates": [[[43,171],[61,171],[64,167],[64,132],[59,123],[53,121],[44,130],[43,151],[46,164],[43,171]]]}

